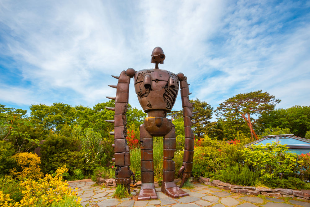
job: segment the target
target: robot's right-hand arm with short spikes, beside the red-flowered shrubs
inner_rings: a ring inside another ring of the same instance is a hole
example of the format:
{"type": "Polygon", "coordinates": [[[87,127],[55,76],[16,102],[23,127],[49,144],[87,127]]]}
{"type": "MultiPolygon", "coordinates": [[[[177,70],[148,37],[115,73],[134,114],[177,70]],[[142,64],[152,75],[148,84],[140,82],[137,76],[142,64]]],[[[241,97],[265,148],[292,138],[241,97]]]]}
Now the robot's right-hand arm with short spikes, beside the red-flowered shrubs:
{"type": "Polygon", "coordinates": [[[179,169],[178,177],[182,176],[182,181],[180,187],[188,180],[192,174],[193,168],[193,156],[194,156],[194,133],[192,131],[192,121],[193,116],[193,106],[189,102],[189,89],[186,76],[183,73],[178,74],[181,88],[181,99],[183,107],[183,119],[184,119],[184,130],[185,130],[185,145],[184,145],[184,155],[183,155],[183,165],[179,169]]]}

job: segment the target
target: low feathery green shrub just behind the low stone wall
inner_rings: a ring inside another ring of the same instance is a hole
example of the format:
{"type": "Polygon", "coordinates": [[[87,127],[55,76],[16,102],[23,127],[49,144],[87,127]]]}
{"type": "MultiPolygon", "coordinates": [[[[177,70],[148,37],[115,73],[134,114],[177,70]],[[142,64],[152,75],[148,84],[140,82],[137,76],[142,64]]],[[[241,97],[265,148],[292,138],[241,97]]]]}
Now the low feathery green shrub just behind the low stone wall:
{"type": "Polygon", "coordinates": [[[236,164],[227,166],[224,170],[221,170],[219,179],[232,184],[254,186],[258,177],[259,174],[257,172],[251,172],[247,166],[236,164]]]}

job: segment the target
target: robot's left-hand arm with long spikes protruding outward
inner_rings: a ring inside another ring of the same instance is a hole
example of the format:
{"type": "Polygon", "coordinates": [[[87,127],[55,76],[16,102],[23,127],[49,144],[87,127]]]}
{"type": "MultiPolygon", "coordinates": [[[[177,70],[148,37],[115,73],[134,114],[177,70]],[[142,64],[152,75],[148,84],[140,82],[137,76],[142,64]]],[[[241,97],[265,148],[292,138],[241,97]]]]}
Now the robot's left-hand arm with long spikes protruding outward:
{"type": "MultiPolygon", "coordinates": [[[[127,145],[127,120],[126,111],[128,106],[128,95],[129,95],[129,83],[130,78],[135,75],[135,70],[128,68],[126,71],[123,70],[119,77],[113,76],[118,79],[117,86],[109,85],[112,88],[116,88],[116,97],[107,97],[115,100],[115,108],[105,107],[108,110],[115,111],[114,120],[105,120],[110,123],[114,123],[114,132],[110,132],[114,135],[114,158],[112,161],[115,162],[115,182],[116,184],[126,184],[128,190],[131,182],[130,170],[130,154],[129,146],[127,145]]],[[[134,175],[133,175],[134,179],[134,175]]]]}

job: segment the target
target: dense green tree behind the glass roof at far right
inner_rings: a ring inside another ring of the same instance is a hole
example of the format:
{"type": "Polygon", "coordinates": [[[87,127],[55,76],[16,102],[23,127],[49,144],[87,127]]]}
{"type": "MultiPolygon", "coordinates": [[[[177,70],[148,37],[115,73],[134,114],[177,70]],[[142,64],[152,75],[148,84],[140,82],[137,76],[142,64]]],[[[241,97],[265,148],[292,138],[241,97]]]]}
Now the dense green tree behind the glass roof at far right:
{"type": "Polygon", "coordinates": [[[263,131],[265,128],[289,128],[298,137],[305,137],[310,130],[310,106],[293,106],[264,112],[257,121],[263,131]]]}

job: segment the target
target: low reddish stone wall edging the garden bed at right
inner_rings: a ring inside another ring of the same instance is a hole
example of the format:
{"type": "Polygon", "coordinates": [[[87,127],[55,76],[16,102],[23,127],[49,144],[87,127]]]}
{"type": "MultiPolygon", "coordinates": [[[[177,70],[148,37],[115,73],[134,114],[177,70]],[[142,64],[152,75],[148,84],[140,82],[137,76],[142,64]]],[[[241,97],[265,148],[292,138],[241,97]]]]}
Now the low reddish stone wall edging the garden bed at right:
{"type": "Polygon", "coordinates": [[[229,190],[234,193],[243,193],[246,195],[266,195],[272,197],[296,197],[301,200],[309,200],[310,191],[309,190],[292,190],[286,188],[275,188],[271,189],[268,187],[253,187],[253,186],[240,186],[232,185],[227,182],[222,182],[220,180],[213,180],[211,182],[210,178],[200,177],[200,182],[204,182],[206,185],[219,187],[224,190],[229,190]]]}

